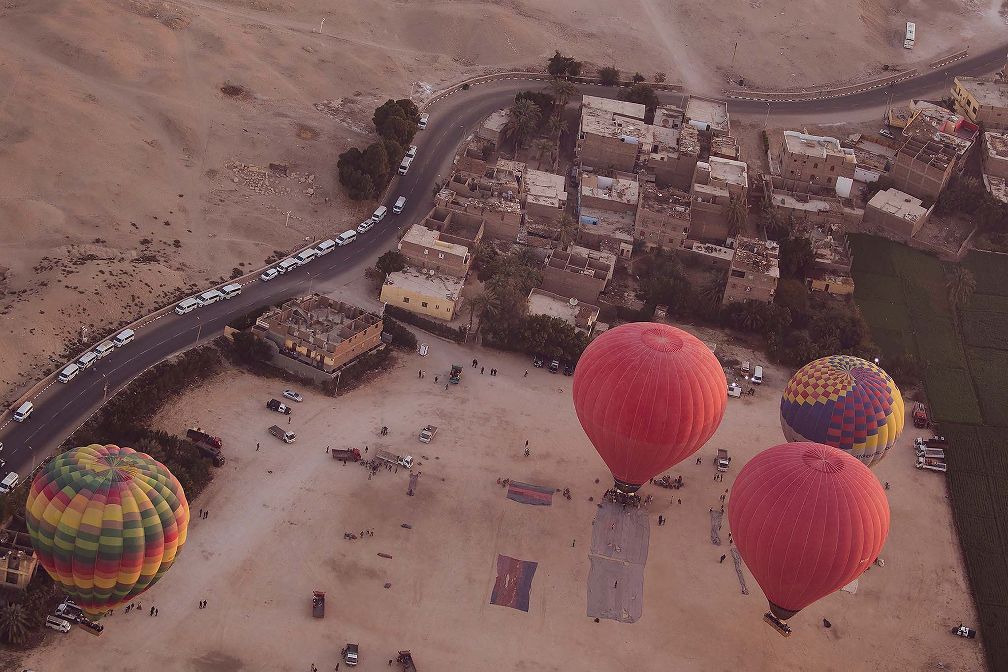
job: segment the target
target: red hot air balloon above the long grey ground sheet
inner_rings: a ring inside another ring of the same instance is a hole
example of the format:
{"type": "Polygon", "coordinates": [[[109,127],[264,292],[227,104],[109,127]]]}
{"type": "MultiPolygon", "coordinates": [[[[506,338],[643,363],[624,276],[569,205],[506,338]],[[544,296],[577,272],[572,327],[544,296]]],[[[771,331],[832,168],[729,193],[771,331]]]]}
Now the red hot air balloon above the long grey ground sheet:
{"type": "Polygon", "coordinates": [[[606,331],[585,349],[574,376],[578,419],[623,493],[697,452],[727,402],[718,358],[667,324],[606,331]]]}

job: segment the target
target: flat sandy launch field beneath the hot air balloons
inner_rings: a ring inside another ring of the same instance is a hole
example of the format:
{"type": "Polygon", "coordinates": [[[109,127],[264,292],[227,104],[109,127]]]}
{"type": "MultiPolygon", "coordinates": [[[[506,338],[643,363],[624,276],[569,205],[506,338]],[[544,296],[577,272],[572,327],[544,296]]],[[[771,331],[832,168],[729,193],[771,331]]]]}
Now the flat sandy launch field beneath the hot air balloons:
{"type": "MultiPolygon", "coordinates": [[[[790,372],[767,366],[754,397],[729,399],[724,422],[697,453],[703,463],[687,458],[671,469],[682,490],[642,489],[655,499],[646,508],[641,619],[595,624],[586,616],[589,543],[611,481],[578,424],[572,379],[525,358],[428,343],[429,357],[397,354],[393,371],[336,400],[305,394],[290,445],[267,433],[286,422],[262,404],[282,382],[230,372],[170,404],[157,426],[200,424],[224,438],[227,463],[191,503],[209,518],[193,522],[182,556],[143,595],[142,610],[117,609],[101,638],[80,628],[50,634],[22,667],[331,670],[343,645],[356,642],[360,670],[387,669],[399,649],[410,649],[422,670],[984,668],[977,641],[951,634],[976,614],[943,479],[913,468],[912,427],[875,469],[892,485],[885,565],[861,577],[857,594],[837,592],[804,610],[783,639],[762,622],[766,600],[748,570],[744,595],[730,559],[718,562],[731,552],[730,530],[726,519],[723,545],[713,545],[709,514],[747,459],[782,441],[777,408],[790,372]],[[469,365],[474,358],[486,374],[469,365]],[[446,391],[452,363],[465,366],[463,380],[446,391]],[[439,427],[429,444],[417,438],[426,423],[439,427]],[[328,446],[413,455],[416,495],[406,496],[405,469],[369,480],[360,465],[333,460],[328,446]],[[713,480],[719,447],[733,458],[723,483],[713,480]],[[506,499],[500,478],[570,487],[573,499],[555,493],[549,507],[519,504],[506,499]],[[661,527],[659,514],[668,519],[661,527]],[[373,536],[343,538],[367,528],[373,536]],[[490,603],[499,554],[538,563],[527,613],[490,603]],[[311,618],[317,589],[327,591],[322,621],[311,618]]],[[[719,351],[752,357],[731,343],[719,351]]]]}

